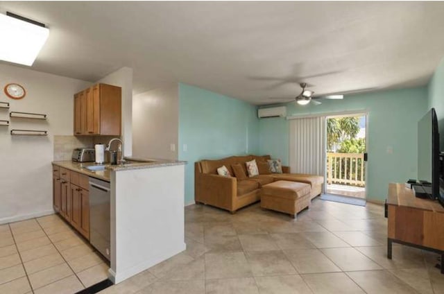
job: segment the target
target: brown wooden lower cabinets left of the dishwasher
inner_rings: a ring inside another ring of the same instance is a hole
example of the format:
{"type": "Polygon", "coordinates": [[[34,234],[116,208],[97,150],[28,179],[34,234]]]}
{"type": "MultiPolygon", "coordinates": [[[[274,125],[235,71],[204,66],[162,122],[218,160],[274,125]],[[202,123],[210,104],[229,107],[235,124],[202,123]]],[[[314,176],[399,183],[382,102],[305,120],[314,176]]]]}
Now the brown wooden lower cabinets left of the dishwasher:
{"type": "Polygon", "coordinates": [[[89,240],[88,176],[62,168],[53,168],[53,207],[65,220],[89,240]],[[57,173],[56,173],[57,170],[57,173]],[[62,173],[63,172],[63,176],[62,173]]]}

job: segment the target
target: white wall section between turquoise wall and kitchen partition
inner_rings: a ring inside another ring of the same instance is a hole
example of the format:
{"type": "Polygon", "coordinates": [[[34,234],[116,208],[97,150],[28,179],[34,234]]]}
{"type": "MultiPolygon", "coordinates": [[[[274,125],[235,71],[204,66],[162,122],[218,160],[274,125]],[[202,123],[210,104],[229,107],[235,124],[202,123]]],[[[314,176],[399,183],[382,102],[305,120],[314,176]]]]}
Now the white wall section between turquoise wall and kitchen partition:
{"type": "Polygon", "coordinates": [[[178,159],[178,128],[178,84],[163,85],[133,97],[135,157],[178,159]]]}

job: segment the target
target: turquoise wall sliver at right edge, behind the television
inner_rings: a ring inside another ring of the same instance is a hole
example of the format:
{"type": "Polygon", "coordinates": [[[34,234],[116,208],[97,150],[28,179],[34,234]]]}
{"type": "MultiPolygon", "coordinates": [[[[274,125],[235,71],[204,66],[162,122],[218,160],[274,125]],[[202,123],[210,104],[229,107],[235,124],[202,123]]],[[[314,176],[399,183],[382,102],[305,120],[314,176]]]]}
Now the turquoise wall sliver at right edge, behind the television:
{"type": "Polygon", "coordinates": [[[436,68],[429,83],[429,108],[434,107],[438,116],[441,150],[444,150],[444,59],[436,68]]]}

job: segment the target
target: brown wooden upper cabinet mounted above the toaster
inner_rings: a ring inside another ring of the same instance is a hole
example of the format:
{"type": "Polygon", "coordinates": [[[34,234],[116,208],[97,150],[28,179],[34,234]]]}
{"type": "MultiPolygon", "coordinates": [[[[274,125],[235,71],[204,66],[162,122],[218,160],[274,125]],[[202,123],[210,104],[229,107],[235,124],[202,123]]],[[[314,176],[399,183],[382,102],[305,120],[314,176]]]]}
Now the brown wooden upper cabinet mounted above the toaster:
{"type": "Polygon", "coordinates": [[[97,84],[74,95],[74,135],[121,135],[121,87],[97,84]]]}

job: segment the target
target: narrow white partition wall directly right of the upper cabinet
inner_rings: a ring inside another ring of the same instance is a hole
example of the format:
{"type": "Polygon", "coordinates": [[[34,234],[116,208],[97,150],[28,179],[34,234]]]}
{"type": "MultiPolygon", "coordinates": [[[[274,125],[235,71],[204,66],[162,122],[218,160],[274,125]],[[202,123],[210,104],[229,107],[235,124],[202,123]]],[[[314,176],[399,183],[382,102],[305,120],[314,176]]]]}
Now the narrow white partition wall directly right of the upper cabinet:
{"type": "Polygon", "coordinates": [[[122,88],[122,139],[125,144],[125,156],[133,150],[132,110],[133,110],[133,69],[122,67],[96,83],[104,83],[122,88]]]}

